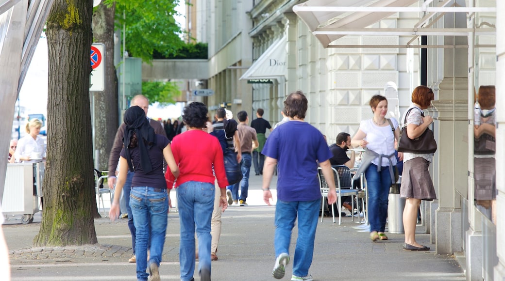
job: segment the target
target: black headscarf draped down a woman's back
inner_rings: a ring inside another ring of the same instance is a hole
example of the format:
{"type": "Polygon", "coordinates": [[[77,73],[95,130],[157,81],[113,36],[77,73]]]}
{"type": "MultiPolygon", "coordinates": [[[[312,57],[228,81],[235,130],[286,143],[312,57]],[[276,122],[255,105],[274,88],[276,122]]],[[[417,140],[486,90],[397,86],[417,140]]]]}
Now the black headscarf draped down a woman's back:
{"type": "Polygon", "coordinates": [[[123,145],[126,153],[126,161],[128,161],[130,171],[134,171],[129,149],[133,133],[137,136],[137,146],[140,151],[140,167],[142,167],[142,171],[144,173],[152,171],[153,167],[151,166],[147,150],[156,145],[156,135],[155,130],[149,125],[149,121],[145,117],[144,110],[138,106],[132,106],[125,111],[123,120],[126,124],[123,145]]]}

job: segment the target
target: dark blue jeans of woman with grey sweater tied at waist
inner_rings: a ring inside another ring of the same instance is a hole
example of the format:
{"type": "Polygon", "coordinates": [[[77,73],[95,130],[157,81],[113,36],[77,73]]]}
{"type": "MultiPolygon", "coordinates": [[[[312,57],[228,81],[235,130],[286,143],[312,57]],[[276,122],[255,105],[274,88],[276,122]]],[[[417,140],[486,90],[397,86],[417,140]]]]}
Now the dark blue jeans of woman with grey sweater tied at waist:
{"type": "Polygon", "coordinates": [[[381,167],[377,172],[377,165],[370,164],[365,171],[368,186],[368,221],[370,232],[384,232],[387,219],[387,203],[391,176],[388,167],[381,167]]]}

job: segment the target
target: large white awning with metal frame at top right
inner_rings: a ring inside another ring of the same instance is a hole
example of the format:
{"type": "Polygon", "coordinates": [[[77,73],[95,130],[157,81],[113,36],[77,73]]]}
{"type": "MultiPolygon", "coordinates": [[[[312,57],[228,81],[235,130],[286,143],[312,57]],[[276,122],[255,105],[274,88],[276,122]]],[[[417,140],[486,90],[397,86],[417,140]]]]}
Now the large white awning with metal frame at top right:
{"type": "MultiPolygon", "coordinates": [[[[467,36],[469,32],[493,35],[496,32],[494,28],[429,28],[431,25],[427,24],[429,19],[440,13],[495,12],[496,10],[495,7],[449,7],[453,4],[450,0],[444,0],[443,3],[438,4],[438,7],[429,7],[431,2],[433,0],[426,2],[420,0],[309,0],[295,5],[293,12],[307,24],[325,48],[344,47],[330,45],[330,43],[345,35],[412,35],[417,37],[420,35],[467,36]],[[413,6],[416,3],[420,4],[413,6]],[[420,21],[412,28],[367,28],[398,12],[419,12],[423,18],[420,18],[420,21]]],[[[375,47],[411,47],[412,42],[413,40],[409,41],[405,46],[375,47]]]]}

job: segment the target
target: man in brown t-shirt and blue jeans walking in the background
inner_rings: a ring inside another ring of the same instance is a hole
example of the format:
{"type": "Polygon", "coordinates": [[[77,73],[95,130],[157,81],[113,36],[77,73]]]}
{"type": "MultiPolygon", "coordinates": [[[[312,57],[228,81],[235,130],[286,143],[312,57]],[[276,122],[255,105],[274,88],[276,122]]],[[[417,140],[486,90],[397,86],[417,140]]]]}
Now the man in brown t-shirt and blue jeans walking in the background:
{"type": "Polygon", "coordinates": [[[232,200],[239,200],[241,206],[246,206],[245,199],[247,198],[247,189],[249,188],[249,172],[251,170],[251,151],[252,142],[258,146],[258,137],[256,130],[247,125],[249,117],[247,112],[240,111],[237,113],[238,125],[238,139],[240,140],[240,148],[242,152],[242,160],[240,161],[240,169],[242,170],[242,180],[234,185],[228,186],[226,194],[228,196],[228,204],[232,200]],[[240,197],[238,196],[238,187],[240,187],[240,197]]]}

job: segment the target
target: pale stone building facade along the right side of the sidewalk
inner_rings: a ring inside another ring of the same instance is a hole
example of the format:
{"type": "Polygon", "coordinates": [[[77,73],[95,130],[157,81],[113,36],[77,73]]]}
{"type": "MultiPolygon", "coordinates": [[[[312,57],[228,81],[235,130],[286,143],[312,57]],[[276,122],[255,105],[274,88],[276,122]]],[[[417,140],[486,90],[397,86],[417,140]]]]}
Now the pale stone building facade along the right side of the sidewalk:
{"type": "MultiPolygon", "coordinates": [[[[275,123],[286,95],[302,90],[309,99],[306,120],[332,144],[339,132],[354,135],[360,121],[371,118],[371,96],[386,95],[390,115],[399,119],[416,86],[432,88],[428,111],[439,148],[430,172],[438,199],[423,204],[426,233],[437,254],[457,256],[468,280],[505,277],[505,258],[499,258],[504,231],[497,228],[505,221],[503,148],[496,146],[496,200],[484,207],[474,197],[473,151],[475,91],[503,88],[496,78],[505,68],[498,32],[505,24],[496,15],[505,2],[361,0],[354,11],[312,11],[324,20],[312,20],[315,26],[302,12],[311,5],[344,7],[345,1],[202,2],[208,8],[198,11],[207,14],[197,18],[207,19],[208,88],[216,93],[206,100],[211,109],[224,105],[251,114],[263,108],[275,123]],[[363,9],[370,7],[376,10],[363,9]]],[[[496,100],[496,144],[503,144],[504,103],[496,100]]]]}

